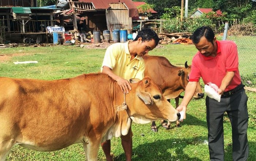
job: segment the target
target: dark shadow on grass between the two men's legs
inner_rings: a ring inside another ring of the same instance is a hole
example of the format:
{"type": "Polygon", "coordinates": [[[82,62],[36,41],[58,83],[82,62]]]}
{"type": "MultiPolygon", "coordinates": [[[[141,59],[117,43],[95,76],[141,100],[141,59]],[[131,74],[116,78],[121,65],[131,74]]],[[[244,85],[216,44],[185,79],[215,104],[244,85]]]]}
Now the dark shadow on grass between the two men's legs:
{"type": "MultiPolygon", "coordinates": [[[[133,148],[133,161],[202,161],[197,157],[189,157],[183,149],[189,145],[198,144],[199,140],[207,140],[206,137],[189,139],[166,139],[152,143],[146,143],[133,148]]],[[[114,158],[114,161],[124,161],[125,155],[114,158]]]]}

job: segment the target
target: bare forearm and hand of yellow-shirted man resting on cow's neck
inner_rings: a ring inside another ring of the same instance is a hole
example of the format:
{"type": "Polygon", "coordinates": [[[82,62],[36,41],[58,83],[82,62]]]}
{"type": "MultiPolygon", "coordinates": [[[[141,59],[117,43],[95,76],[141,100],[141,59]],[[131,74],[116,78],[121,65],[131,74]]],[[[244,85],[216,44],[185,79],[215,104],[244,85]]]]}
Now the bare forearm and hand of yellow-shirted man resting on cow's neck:
{"type": "Polygon", "coordinates": [[[103,66],[102,73],[108,74],[111,78],[116,80],[117,84],[120,86],[120,89],[125,92],[126,94],[129,93],[129,90],[132,90],[132,87],[130,85],[130,82],[126,79],[121,78],[120,76],[117,76],[114,74],[111,70],[111,68],[107,66],[103,66]]]}

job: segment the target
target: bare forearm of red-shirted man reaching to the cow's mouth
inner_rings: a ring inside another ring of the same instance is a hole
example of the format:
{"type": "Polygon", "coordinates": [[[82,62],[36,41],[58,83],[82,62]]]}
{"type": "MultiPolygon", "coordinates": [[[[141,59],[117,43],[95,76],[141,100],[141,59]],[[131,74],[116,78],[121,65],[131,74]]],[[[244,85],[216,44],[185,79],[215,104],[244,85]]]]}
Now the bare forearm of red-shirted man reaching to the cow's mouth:
{"type": "Polygon", "coordinates": [[[182,102],[180,106],[176,108],[177,111],[184,111],[184,119],[186,118],[186,111],[187,111],[187,105],[192,99],[197,87],[197,82],[188,82],[188,85],[185,89],[184,98],[182,99],[182,102]]]}

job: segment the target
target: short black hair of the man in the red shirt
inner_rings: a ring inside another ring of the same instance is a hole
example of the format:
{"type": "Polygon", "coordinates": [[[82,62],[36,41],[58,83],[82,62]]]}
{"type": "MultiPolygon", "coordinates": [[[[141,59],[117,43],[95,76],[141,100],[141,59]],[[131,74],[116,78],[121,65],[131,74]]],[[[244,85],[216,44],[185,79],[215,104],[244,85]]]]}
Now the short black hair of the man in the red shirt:
{"type": "Polygon", "coordinates": [[[205,37],[207,39],[208,42],[213,42],[214,40],[214,32],[212,31],[212,29],[208,26],[203,26],[200,28],[197,28],[196,31],[193,33],[191,39],[193,41],[194,44],[199,43],[200,39],[202,37],[205,37]]]}

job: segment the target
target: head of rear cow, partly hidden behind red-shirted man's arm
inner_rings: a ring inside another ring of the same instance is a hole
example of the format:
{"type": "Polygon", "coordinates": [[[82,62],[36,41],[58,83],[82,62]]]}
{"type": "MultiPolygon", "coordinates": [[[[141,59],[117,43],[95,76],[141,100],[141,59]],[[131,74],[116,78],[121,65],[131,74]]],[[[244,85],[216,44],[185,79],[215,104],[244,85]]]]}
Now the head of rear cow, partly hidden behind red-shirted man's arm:
{"type": "MultiPolygon", "coordinates": [[[[185,62],[185,68],[182,68],[178,71],[178,76],[180,76],[181,79],[181,86],[182,88],[185,90],[187,84],[188,84],[188,80],[189,80],[189,74],[191,72],[191,65],[188,66],[187,64],[188,61],[185,62]]],[[[197,87],[196,87],[196,91],[193,95],[193,98],[203,98],[204,97],[204,93],[203,90],[201,88],[201,85],[199,82],[197,82],[197,87]]]]}

